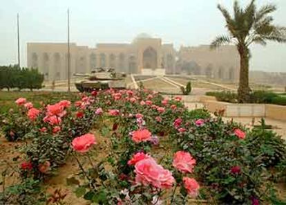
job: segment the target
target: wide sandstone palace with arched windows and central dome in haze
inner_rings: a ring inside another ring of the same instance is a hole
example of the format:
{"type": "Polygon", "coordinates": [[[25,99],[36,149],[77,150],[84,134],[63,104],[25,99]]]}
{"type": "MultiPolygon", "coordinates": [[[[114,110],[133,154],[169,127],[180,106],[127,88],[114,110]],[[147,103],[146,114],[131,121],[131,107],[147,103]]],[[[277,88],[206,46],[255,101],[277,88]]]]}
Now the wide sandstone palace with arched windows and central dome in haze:
{"type": "MultiPolygon", "coordinates": [[[[38,68],[46,80],[67,79],[67,44],[28,43],[28,67],[38,68]]],[[[90,73],[93,69],[114,68],[124,73],[146,75],[189,74],[236,80],[239,56],[234,46],[211,51],[209,46],[184,47],[175,51],[173,44],[146,34],[130,44],[97,44],[95,48],[70,44],[70,74],[90,73]]]]}

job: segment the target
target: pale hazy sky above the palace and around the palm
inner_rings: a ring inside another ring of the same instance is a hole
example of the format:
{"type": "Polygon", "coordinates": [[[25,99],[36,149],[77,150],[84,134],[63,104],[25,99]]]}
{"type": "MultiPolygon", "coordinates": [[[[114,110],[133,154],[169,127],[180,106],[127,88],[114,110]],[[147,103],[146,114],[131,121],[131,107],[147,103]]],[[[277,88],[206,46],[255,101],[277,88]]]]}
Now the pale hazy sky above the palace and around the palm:
{"type": "MultiPolygon", "coordinates": [[[[275,3],[275,22],[286,26],[286,0],[256,1],[275,3]]],[[[217,3],[231,9],[233,0],[1,0],[0,65],[17,63],[17,12],[21,64],[26,65],[27,42],[66,42],[67,8],[71,41],[78,45],[128,43],[140,33],[149,33],[180,48],[209,44],[226,33],[217,3]]],[[[251,51],[251,70],[286,72],[286,44],[253,46],[251,51]]]]}

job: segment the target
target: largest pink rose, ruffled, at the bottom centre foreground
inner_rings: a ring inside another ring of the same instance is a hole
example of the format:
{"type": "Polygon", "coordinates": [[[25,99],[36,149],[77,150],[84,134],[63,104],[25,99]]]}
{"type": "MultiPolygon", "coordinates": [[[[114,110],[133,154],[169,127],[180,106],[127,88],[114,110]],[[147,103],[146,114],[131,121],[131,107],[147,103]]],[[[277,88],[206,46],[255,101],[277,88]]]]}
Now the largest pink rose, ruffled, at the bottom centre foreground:
{"type": "Polygon", "coordinates": [[[169,170],[165,170],[152,158],[142,159],[135,164],[135,181],[144,186],[155,188],[171,188],[175,179],[169,170]]]}

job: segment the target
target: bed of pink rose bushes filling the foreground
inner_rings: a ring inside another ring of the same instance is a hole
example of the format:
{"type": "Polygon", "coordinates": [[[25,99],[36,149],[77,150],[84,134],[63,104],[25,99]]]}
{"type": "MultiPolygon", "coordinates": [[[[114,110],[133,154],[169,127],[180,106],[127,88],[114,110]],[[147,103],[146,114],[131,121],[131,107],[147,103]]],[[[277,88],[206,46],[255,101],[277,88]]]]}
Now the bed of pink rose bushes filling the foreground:
{"type": "MultiPolygon", "coordinates": [[[[18,99],[19,112],[10,115],[4,129],[22,118],[17,137],[6,132],[8,140],[27,141],[25,160],[17,168],[22,184],[52,177],[73,157],[79,172],[68,184],[77,197],[97,204],[274,200],[274,177],[284,175],[280,170],[286,156],[280,136],[263,127],[247,130],[223,123],[203,109],[188,111],[181,100],[149,90],[113,89],[81,94],[73,104],[61,100],[40,108],[18,99]],[[93,134],[95,127],[102,136],[93,134]],[[104,157],[97,157],[99,138],[108,146],[104,157]]],[[[55,195],[50,201],[64,200],[55,195]]],[[[12,199],[15,193],[2,197],[12,199]]]]}

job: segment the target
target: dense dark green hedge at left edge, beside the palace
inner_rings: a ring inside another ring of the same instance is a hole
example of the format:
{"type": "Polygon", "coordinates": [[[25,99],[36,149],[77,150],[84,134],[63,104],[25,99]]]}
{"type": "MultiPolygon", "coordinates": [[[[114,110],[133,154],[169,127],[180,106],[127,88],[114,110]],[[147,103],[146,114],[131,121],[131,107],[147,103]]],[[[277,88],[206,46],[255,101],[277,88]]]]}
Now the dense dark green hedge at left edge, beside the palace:
{"type": "Polygon", "coordinates": [[[44,75],[37,69],[20,68],[17,65],[0,66],[0,89],[41,89],[44,75]]]}

